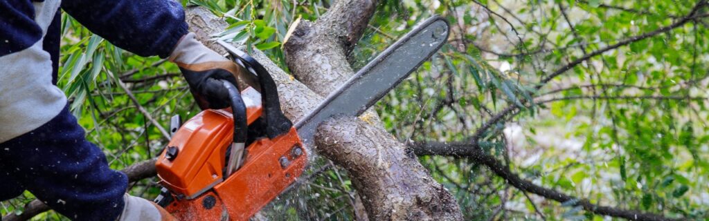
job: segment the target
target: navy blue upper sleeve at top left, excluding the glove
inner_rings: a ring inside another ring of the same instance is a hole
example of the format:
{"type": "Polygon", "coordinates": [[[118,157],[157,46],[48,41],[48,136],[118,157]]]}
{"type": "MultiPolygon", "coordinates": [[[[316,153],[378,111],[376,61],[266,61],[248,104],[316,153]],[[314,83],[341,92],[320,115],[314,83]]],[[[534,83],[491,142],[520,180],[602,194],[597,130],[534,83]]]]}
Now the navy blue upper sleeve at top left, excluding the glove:
{"type": "Polygon", "coordinates": [[[188,33],[184,10],[172,0],[64,0],[62,9],[91,32],[143,57],[169,57],[188,33]]]}

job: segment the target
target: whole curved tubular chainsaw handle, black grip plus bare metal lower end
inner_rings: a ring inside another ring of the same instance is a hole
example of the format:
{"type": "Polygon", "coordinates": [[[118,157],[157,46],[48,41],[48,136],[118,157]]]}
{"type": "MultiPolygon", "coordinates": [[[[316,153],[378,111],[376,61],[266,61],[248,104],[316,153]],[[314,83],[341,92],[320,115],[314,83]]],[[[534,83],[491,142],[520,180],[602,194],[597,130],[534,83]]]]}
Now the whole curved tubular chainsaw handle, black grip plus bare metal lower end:
{"type": "Polygon", "coordinates": [[[241,93],[239,92],[239,89],[229,81],[221,81],[223,86],[229,92],[231,113],[234,118],[234,139],[232,141],[231,151],[229,153],[229,162],[227,164],[226,174],[224,174],[224,176],[227,177],[233,174],[234,171],[239,169],[242,164],[247,135],[247,117],[246,105],[244,103],[244,100],[241,98],[241,93]]]}

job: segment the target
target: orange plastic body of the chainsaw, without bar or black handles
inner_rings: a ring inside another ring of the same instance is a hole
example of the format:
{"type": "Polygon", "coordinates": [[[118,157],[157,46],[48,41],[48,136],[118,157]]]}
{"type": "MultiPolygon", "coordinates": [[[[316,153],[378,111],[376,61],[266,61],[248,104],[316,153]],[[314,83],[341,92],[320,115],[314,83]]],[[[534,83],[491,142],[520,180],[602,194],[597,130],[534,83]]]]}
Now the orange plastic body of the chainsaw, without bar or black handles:
{"type": "MultiPolygon", "coordinates": [[[[244,97],[257,94],[252,88],[244,97]]],[[[259,102],[247,103],[247,123],[262,114],[259,102]]],[[[186,121],[158,157],[157,176],[174,200],[165,206],[179,220],[248,220],[303,173],[306,149],[295,128],[278,137],[259,137],[245,149],[243,165],[224,177],[225,156],[233,137],[228,110],[206,110],[186,121]],[[166,148],[167,149],[167,148],[166,148]]]]}

